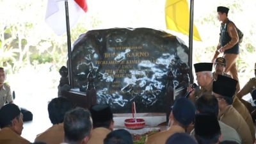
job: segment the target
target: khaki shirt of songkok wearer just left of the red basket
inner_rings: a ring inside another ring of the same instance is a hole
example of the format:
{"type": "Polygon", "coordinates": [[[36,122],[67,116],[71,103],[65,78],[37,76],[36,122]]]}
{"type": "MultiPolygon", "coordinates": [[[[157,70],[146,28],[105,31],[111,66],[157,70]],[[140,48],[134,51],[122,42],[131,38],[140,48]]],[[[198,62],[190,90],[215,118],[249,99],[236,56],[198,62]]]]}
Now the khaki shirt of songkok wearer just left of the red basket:
{"type": "Polygon", "coordinates": [[[87,144],[103,144],[104,138],[111,132],[109,129],[104,127],[97,127],[92,130],[92,135],[87,144]]]}

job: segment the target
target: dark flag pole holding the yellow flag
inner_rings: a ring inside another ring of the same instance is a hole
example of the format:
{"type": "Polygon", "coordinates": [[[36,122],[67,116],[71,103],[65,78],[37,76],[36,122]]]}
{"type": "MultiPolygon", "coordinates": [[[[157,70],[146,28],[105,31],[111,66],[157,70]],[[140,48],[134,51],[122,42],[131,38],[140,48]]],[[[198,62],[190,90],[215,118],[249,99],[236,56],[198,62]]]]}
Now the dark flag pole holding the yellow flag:
{"type": "Polygon", "coordinates": [[[193,15],[194,15],[194,0],[190,0],[190,12],[189,12],[189,81],[194,83],[193,71],[192,71],[192,58],[193,58],[193,15]]]}

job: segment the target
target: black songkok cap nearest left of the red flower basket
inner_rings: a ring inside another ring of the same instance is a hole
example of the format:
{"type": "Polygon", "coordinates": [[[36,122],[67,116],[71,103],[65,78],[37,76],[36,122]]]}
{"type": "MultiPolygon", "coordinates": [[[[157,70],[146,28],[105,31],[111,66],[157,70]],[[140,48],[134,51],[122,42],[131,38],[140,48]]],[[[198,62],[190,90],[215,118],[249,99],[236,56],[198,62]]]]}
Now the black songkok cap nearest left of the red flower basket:
{"type": "Polygon", "coordinates": [[[113,113],[106,104],[95,104],[91,106],[90,113],[92,115],[93,122],[106,122],[113,119],[113,113]]]}

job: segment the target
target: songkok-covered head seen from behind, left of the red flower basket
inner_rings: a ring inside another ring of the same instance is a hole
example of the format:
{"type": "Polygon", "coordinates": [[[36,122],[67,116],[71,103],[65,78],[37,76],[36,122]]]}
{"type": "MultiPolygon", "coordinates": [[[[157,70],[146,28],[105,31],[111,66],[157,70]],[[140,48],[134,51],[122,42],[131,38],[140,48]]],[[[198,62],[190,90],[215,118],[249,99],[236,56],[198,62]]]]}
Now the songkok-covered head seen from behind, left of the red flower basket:
{"type": "Polygon", "coordinates": [[[95,104],[91,106],[90,113],[92,115],[93,129],[96,127],[105,127],[107,129],[113,130],[113,113],[108,105],[95,104]]]}

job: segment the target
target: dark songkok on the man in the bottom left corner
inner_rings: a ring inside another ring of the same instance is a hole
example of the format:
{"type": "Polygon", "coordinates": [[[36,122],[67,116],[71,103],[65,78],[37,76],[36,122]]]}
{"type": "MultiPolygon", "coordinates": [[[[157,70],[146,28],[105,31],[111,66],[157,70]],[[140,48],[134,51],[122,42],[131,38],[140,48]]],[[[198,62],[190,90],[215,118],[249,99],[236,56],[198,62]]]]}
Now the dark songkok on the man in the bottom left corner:
{"type": "Polygon", "coordinates": [[[20,115],[20,108],[15,104],[6,104],[0,109],[0,127],[10,125],[13,118],[20,115]]]}

